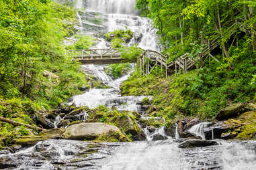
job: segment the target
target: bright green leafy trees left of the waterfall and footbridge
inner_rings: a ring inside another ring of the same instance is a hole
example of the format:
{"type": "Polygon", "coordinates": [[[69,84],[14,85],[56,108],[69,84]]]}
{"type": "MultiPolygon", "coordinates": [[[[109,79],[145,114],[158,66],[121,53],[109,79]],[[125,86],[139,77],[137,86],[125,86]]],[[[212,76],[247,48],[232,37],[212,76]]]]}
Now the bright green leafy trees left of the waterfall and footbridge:
{"type": "MultiPolygon", "coordinates": [[[[0,1],[0,20],[3,98],[29,98],[36,108],[50,109],[79,93],[85,78],[63,48],[63,38],[75,33],[71,7],[52,1],[0,1]]],[[[89,37],[77,38],[77,49],[93,44],[89,37]]]]}

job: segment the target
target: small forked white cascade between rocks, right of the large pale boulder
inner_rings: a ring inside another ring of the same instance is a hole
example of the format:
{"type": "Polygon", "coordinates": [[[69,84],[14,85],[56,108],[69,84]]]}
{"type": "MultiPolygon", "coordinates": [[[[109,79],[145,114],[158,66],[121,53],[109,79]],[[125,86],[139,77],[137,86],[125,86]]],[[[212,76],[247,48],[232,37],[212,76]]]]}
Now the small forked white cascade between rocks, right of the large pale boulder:
{"type": "Polygon", "coordinates": [[[165,126],[161,126],[157,129],[155,129],[155,131],[153,131],[153,132],[150,132],[149,127],[147,126],[146,128],[143,129],[143,131],[146,135],[146,141],[154,141],[154,137],[160,137],[160,139],[162,139],[162,140],[171,139],[171,137],[168,137],[165,134],[165,126]]]}

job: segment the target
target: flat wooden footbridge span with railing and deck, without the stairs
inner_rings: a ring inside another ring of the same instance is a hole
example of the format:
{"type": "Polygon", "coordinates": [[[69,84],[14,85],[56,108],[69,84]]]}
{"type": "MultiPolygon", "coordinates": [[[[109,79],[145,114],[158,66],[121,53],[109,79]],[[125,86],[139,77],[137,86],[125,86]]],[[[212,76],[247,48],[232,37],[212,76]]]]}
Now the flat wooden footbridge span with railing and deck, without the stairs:
{"type": "MultiPolygon", "coordinates": [[[[88,50],[67,50],[66,55],[81,64],[118,64],[124,61],[121,53],[115,48],[88,49],[88,50]]],[[[134,61],[136,62],[136,61],[134,61]]]]}

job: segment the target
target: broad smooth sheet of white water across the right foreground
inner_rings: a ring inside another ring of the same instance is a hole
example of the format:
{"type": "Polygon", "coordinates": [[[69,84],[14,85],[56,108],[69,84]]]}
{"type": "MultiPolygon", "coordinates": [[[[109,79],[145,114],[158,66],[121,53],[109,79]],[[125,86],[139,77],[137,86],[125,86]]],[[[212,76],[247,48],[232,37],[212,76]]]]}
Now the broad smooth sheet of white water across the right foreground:
{"type": "Polygon", "coordinates": [[[114,149],[112,157],[101,163],[101,169],[256,169],[255,141],[218,143],[196,149],[179,149],[173,141],[128,143],[114,149]]]}

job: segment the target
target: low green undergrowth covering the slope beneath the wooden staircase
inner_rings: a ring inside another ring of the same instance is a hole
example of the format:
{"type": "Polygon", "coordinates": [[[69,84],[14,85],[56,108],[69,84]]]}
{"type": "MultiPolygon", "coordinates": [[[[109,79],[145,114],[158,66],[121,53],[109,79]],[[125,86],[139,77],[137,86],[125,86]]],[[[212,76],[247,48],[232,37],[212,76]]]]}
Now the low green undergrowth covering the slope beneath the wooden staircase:
{"type": "Polygon", "coordinates": [[[233,70],[216,71],[217,63],[167,79],[156,74],[140,78],[137,71],[122,84],[122,95],[152,95],[152,104],[166,121],[177,116],[214,118],[230,102],[249,102],[255,97],[256,67],[246,56],[236,62],[233,70]]]}

